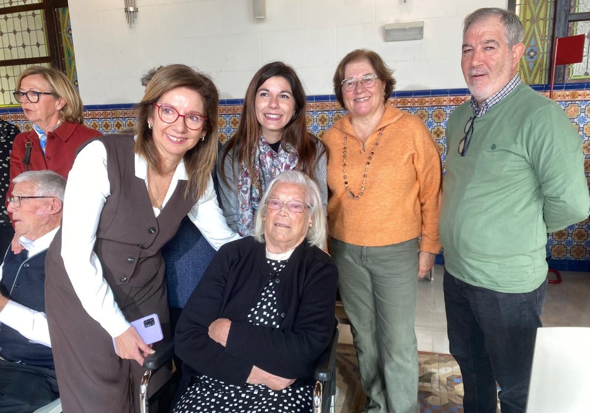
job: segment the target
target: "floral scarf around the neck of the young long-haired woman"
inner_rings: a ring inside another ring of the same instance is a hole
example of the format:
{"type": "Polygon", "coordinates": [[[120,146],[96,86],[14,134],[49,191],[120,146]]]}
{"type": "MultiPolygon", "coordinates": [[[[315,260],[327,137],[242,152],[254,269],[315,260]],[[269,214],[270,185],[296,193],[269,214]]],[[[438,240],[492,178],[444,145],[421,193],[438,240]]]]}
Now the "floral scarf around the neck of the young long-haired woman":
{"type": "Polygon", "coordinates": [[[258,139],[258,148],[254,156],[254,176],[250,176],[245,165],[240,165],[238,170],[238,232],[242,237],[247,237],[254,230],[254,214],[258,211],[258,205],[266,183],[273,180],[275,176],[283,171],[289,171],[297,166],[297,155],[290,145],[287,151],[283,145],[278,147],[278,152],[268,145],[263,136],[258,139]],[[253,184],[257,181],[260,189],[253,184]]]}

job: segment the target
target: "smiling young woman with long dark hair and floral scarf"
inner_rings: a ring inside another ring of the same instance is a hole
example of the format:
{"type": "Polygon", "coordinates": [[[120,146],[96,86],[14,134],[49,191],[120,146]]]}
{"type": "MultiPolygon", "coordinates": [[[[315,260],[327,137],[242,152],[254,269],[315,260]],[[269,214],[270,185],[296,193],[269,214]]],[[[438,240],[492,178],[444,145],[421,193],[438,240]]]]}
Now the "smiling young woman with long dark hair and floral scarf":
{"type": "Polygon", "coordinates": [[[325,210],[325,149],[307,132],[305,92],[297,73],[277,61],[261,67],[250,81],[238,131],[219,153],[221,207],[229,227],[250,235],[264,189],[290,169],[319,185],[325,210]]]}

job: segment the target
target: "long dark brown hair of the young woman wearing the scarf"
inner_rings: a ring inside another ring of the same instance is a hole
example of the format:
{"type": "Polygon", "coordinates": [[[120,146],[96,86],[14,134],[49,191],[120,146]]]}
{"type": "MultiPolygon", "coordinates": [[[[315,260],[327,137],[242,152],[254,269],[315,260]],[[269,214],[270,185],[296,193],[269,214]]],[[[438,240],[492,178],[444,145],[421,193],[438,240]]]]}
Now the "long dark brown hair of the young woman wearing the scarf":
{"type": "MultiPolygon", "coordinates": [[[[250,85],[248,85],[248,89],[246,90],[244,106],[242,106],[240,126],[238,126],[235,135],[225,145],[221,163],[225,163],[225,158],[228,153],[233,150],[233,162],[237,162],[238,165],[245,165],[248,174],[250,176],[255,175],[253,153],[257,152],[258,137],[260,137],[260,123],[258,123],[256,117],[255,107],[256,93],[264,82],[274,76],[282,77],[289,82],[291,92],[293,93],[293,99],[295,101],[295,113],[293,114],[293,118],[283,129],[281,146],[285,149],[287,143],[291,145],[296,152],[294,155],[297,155],[298,159],[296,169],[306,173],[307,176],[310,176],[317,182],[317,177],[314,172],[316,168],[316,159],[318,159],[326,149],[324,149],[323,144],[316,136],[307,132],[307,123],[305,119],[305,91],[303,90],[303,85],[301,85],[299,77],[297,77],[297,73],[291,66],[280,61],[267,63],[254,74],[254,77],[250,81],[250,85]],[[321,152],[319,153],[319,151],[321,152]]],[[[225,176],[224,168],[221,168],[221,178],[228,186],[230,186],[227,176],[225,176]]],[[[234,180],[236,178],[237,177],[234,176],[234,180]]],[[[253,184],[258,187],[260,186],[255,179],[253,179],[253,184]]],[[[261,188],[259,187],[258,189],[261,188]]]]}

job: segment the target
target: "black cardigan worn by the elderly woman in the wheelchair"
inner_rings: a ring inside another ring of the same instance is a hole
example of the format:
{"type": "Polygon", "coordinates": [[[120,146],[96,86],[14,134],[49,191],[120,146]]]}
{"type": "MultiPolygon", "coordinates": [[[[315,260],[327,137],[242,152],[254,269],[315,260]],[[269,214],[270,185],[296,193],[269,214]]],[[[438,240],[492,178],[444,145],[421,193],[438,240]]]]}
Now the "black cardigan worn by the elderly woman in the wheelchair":
{"type": "Polygon", "coordinates": [[[185,375],[196,373],[244,385],[255,365],[274,375],[312,381],[317,358],[330,342],[338,272],[326,253],[303,241],[275,284],[278,329],[247,321],[271,278],[265,244],[253,237],[221,247],[186,303],[175,335],[185,375]],[[209,338],[209,324],[231,320],[227,346],[209,338]]]}

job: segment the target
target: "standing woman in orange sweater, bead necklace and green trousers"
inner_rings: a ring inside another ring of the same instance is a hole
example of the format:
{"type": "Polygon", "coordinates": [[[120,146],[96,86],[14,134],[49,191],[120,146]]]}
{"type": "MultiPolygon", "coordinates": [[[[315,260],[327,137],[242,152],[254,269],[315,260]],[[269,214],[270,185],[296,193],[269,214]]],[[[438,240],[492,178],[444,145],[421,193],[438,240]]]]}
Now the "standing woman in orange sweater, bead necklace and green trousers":
{"type": "Polygon", "coordinates": [[[323,136],[329,247],[368,397],[365,412],[418,413],[417,278],[441,248],[440,155],[418,117],[387,103],[395,80],[378,54],[350,52],[333,81],[348,113],[323,136]]]}

